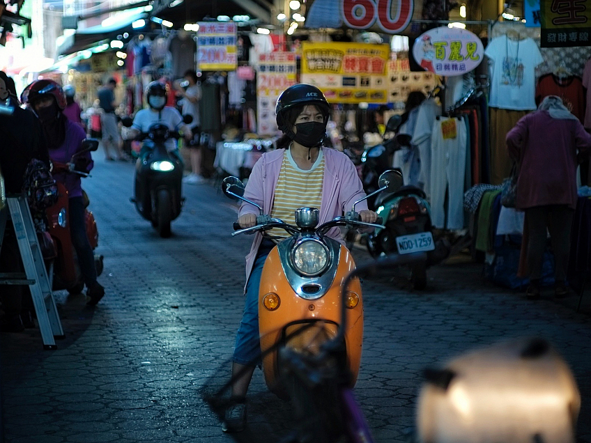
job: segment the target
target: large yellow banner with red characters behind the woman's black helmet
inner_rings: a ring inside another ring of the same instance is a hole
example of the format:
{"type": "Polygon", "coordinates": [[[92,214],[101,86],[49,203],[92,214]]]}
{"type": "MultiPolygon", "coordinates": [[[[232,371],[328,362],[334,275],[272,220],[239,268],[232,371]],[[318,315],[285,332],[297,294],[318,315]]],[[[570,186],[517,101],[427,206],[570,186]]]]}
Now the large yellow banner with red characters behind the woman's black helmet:
{"type": "Polygon", "coordinates": [[[301,82],[331,103],[386,103],[389,56],[389,45],[303,42],[301,82]]]}

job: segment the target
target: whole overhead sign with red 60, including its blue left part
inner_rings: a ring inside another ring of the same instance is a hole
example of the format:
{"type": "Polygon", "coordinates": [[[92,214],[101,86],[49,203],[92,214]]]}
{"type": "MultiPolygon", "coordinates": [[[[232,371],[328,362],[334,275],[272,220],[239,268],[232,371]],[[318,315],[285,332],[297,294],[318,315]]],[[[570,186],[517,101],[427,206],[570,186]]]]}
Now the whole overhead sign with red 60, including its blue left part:
{"type": "Polygon", "coordinates": [[[309,0],[305,26],[312,29],[346,26],[387,34],[416,33],[408,24],[422,18],[422,3],[422,0],[309,0]]]}

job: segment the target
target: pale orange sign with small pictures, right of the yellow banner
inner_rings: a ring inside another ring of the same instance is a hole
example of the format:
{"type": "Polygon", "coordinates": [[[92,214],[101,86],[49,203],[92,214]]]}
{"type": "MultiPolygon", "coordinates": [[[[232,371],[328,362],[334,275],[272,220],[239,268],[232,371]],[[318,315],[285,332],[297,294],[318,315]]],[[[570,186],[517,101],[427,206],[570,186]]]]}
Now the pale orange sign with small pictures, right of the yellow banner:
{"type": "Polygon", "coordinates": [[[433,72],[410,72],[408,59],[390,60],[387,63],[388,102],[406,102],[412,91],[425,95],[438,85],[439,79],[433,72]]]}

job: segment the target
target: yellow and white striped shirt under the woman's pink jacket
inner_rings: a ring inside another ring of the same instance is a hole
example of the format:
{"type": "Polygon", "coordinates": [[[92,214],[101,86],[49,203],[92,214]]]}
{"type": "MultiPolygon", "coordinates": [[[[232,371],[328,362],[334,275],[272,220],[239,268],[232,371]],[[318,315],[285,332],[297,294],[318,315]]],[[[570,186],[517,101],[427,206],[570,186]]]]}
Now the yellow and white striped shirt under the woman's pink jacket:
{"type": "MultiPolygon", "coordinates": [[[[322,201],[322,181],[324,178],[324,155],[322,150],[309,171],[300,169],[291,157],[291,151],[285,150],[281,171],[275,188],[275,199],[271,217],[289,224],[296,224],[296,209],[318,208],[322,201]]],[[[289,234],[283,229],[272,229],[270,235],[286,238],[289,234]]]]}

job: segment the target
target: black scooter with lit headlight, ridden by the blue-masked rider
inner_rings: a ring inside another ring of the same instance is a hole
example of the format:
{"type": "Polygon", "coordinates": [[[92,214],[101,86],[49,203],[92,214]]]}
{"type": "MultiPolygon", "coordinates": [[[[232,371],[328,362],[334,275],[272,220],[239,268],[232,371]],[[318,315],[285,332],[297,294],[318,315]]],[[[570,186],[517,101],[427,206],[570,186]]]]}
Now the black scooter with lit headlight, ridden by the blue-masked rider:
{"type": "MultiPolygon", "coordinates": [[[[192,117],[184,116],[183,121],[189,124],[192,117]]],[[[130,127],[131,118],[124,119],[123,125],[130,127]]],[[[147,133],[136,137],[144,143],[135,164],[135,196],[130,201],[162,238],[170,237],[171,221],[181,214],[185,200],[181,195],[183,160],[178,151],[169,152],[166,148],[168,139],[180,137],[162,123],[153,124],[147,133]]]]}

